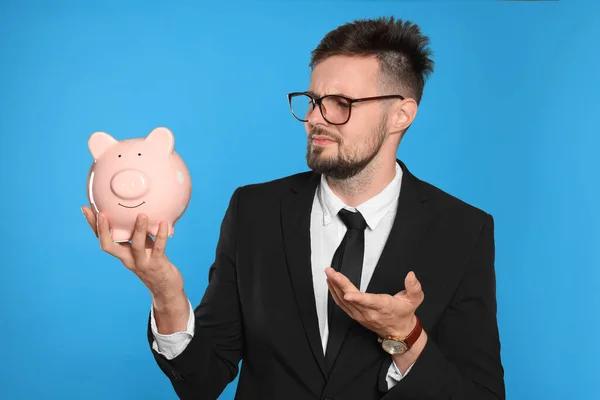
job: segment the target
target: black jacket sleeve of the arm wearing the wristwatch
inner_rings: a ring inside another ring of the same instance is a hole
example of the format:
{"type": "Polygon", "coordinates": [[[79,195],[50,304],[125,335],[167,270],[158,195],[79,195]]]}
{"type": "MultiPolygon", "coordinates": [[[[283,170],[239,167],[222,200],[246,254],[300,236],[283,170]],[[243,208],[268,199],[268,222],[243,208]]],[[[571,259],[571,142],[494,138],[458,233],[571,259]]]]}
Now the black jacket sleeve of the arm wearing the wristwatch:
{"type": "Polygon", "coordinates": [[[468,268],[410,373],[384,400],[504,400],[496,320],[494,220],[486,215],[468,268]]]}

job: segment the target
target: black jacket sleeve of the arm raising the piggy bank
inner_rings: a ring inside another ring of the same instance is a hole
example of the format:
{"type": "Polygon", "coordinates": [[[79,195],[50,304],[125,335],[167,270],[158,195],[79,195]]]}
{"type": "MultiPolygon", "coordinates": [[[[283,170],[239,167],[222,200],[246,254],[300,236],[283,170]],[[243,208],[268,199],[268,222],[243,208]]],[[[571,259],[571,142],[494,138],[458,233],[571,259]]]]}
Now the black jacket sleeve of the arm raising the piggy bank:
{"type": "Polygon", "coordinates": [[[181,399],[216,399],[238,374],[244,342],[236,274],[239,197],[240,188],[233,193],[221,223],[208,286],[194,310],[192,340],[181,354],[168,360],[152,348],[148,322],[152,354],[181,399]]]}

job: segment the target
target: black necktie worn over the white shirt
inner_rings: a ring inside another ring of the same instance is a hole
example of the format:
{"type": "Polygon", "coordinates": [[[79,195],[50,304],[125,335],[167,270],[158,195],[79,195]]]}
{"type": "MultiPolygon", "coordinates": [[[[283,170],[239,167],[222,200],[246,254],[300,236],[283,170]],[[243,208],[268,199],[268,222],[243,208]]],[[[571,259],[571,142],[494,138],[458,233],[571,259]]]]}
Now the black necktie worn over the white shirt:
{"type": "MultiPolygon", "coordinates": [[[[338,215],[348,230],[333,255],[331,267],[344,274],[360,290],[367,222],[358,211],[352,212],[341,209],[338,215]]],[[[329,321],[329,339],[325,357],[331,364],[344,339],[350,318],[345,315],[344,310],[335,304],[331,293],[328,294],[327,298],[327,318],[329,321]]]]}

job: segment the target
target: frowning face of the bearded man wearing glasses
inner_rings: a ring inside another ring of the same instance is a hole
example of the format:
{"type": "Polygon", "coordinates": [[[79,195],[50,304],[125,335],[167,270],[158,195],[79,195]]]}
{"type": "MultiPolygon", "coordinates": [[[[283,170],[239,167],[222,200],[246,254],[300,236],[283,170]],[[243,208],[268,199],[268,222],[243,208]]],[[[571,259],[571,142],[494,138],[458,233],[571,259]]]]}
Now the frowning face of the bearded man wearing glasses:
{"type": "MultiPolygon", "coordinates": [[[[309,92],[315,97],[338,94],[350,98],[378,96],[379,64],[374,58],[333,56],[314,68],[309,92]]],[[[381,101],[351,105],[344,125],[328,123],[317,106],[307,115],[306,160],[315,172],[347,179],[361,172],[379,153],[387,137],[387,115],[381,101]]]]}

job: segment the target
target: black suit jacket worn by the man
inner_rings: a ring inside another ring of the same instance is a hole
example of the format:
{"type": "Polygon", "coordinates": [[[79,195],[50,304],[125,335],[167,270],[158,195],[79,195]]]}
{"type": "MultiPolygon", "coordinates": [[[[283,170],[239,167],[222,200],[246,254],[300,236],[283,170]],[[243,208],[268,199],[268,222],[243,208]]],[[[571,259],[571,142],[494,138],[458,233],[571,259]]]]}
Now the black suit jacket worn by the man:
{"type": "MultiPolygon", "coordinates": [[[[391,390],[392,359],[348,319],[337,359],[323,356],[312,285],[310,213],[320,176],[238,188],[222,222],[195,335],[154,352],[181,399],[216,399],[238,373],[239,400],[504,399],[492,217],[403,169],[398,211],[368,292],[396,294],[414,270],[429,340],[391,390]]],[[[148,324],[148,340],[153,337],[148,324]]]]}

